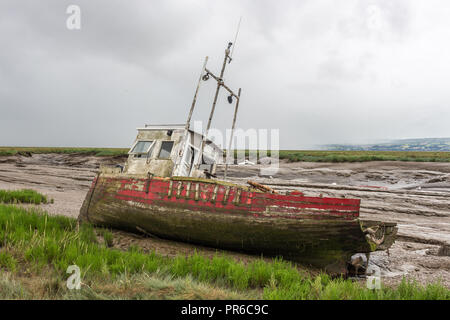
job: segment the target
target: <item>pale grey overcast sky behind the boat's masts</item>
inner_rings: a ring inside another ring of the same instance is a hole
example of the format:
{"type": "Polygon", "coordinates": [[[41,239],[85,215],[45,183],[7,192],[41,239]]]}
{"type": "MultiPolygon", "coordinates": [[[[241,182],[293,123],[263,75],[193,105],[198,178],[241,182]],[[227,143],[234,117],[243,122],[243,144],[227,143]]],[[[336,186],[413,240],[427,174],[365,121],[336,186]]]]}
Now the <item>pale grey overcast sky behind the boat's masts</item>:
{"type": "MultiPolygon", "coordinates": [[[[280,129],[283,149],[450,136],[449,1],[1,0],[0,145],[128,147],[136,127],[183,123],[240,16],[238,127],[280,129]]],[[[213,126],[232,110],[223,93],[213,126]]]]}

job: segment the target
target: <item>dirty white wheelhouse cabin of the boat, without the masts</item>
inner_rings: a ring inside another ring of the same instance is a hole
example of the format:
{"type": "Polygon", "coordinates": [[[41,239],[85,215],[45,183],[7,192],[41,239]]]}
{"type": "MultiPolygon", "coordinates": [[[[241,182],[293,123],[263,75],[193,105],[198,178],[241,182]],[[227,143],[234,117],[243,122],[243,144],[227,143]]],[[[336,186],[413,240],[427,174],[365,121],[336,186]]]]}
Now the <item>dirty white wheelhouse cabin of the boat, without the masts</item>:
{"type": "Polygon", "coordinates": [[[153,174],[158,177],[211,177],[223,151],[203,135],[186,130],[185,125],[145,125],[138,128],[136,140],[123,168],[128,174],[153,174]]]}

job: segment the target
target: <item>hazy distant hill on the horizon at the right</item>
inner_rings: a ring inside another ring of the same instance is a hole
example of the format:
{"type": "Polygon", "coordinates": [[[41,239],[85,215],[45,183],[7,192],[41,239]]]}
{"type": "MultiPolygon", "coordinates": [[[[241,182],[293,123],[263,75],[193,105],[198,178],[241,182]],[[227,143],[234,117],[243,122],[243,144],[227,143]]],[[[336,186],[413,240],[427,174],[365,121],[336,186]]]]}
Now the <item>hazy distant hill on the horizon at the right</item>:
{"type": "Polygon", "coordinates": [[[450,152],[450,138],[423,138],[392,140],[379,144],[329,144],[324,150],[366,150],[366,151],[446,151],[450,152]]]}

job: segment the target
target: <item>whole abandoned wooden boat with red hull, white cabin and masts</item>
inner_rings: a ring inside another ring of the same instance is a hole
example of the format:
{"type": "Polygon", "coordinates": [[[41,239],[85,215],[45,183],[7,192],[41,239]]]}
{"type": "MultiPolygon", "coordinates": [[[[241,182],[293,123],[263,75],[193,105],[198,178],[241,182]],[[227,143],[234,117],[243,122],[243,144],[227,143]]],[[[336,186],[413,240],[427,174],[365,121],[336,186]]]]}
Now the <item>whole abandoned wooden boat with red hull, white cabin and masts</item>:
{"type": "Polygon", "coordinates": [[[280,194],[257,183],[237,185],[214,178],[223,152],[207,139],[207,132],[217,93],[223,87],[236,100],[233,129],[240,97],[222,80],[231,60],[229,49],[220,77],[206,69],[206,61],[202,68],[199,85],[209,76],[218,83],[206,133],[189,127],[198,85],[186,124],[138,128],[124,166],[100,168],[79,219],[165,239],[281,256],[331,273],[346,273],[355,253],[389,248],[396,225],[360,220],[359,199],[280,194]]]}

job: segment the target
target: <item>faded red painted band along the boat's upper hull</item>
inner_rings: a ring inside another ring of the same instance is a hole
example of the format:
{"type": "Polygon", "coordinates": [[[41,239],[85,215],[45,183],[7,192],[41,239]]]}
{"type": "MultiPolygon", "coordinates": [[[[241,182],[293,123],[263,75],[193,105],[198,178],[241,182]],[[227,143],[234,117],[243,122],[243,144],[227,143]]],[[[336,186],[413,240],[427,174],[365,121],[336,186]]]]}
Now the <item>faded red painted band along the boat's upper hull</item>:
{"type": "MultiPolygon", "coordinates": [[[[271,194],[187,179],[177,181],[158,178],[151,180],[109,178],[104,183],[108,185],[118,180],[120,187],[114,194],[116,199],[148,205],[179,205],[195,211],[222,212],[223,214],[239,211],[255,216],[292,219],[355,219],[359,217],[359,199],[271,194]],[[216,186],[217,190],[215,190],[216,186]]],[[[95,183],[94,181],[94,185],[95,183]]]]}

